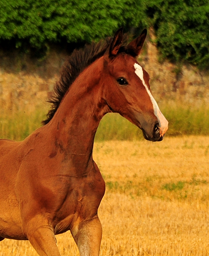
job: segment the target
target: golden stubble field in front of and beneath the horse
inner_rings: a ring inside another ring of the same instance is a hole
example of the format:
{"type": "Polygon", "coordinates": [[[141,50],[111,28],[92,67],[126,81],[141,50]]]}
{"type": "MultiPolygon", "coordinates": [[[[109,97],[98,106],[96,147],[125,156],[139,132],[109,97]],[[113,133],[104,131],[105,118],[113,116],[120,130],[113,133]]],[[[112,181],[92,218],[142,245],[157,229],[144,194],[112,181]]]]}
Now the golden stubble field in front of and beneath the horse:
{"type": "MultiPolygon", "coordinates": [[[[209,137],[94,145],[106,182],[99,207],[101,256],[209,255],[209,137]]],[[[70,232],[61,255],[79,255],[70,232]]],[[[0,256],[35,256],[28,241],[5,239],[0,256]]]]}

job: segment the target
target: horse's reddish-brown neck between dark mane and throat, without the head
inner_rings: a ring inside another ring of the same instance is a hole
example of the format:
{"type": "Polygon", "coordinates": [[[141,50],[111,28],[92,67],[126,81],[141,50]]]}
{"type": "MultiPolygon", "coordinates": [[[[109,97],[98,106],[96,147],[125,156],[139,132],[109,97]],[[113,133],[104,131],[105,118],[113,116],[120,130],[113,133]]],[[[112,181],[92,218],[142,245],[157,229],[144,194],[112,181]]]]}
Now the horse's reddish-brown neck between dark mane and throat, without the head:
{"type": "Polygon", "coordinates": [[[71,85],[51,120],[56,143],[70,154],[88,155],[104,115],[99,86],[102,61],[88,67],[71,85]]]}

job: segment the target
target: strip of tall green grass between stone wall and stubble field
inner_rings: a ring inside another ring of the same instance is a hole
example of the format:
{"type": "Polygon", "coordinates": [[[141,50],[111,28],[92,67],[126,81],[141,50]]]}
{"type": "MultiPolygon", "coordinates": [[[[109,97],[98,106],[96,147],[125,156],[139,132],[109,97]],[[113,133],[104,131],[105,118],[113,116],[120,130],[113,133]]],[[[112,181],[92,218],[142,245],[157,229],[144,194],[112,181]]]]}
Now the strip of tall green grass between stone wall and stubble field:
{"type": "MultiPolygon", "coordinates": [[[[179,103],[164,103],[161,111],[169,121],[166,136],[209,134],[209,107],[205,105],[195,108],[179,103]]],[[[24,140],[41,126],[46,113],[47,109],[42,108],[30,114],[23,111],[1,114],[0,138],[24,140]]],[[[116,113],[109,113],[103,117],[95,137],[96,141],[141,139],[143,139],[141,130],[116,113]]],[[[185,144],[185,148],[192,146],[185,144]]]]}

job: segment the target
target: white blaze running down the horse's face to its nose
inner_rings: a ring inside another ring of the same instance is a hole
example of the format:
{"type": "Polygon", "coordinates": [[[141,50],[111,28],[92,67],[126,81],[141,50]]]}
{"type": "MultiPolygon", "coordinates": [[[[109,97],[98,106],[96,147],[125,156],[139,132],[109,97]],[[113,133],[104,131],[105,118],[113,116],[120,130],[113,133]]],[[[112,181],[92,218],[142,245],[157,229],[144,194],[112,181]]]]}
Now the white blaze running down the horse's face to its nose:
{"type": "Polygon", "coordinates": [[[147,90],[148,95],[150,96],[150,100],[153,104],[154,115],[157,117],[159,125],[161,125],[161,135],[163,136],[168,129],[168,121],[166,120],[164,115],[161,113],[157,102],[155,101],[152,93],[150,92],[150,90],[147,87],[147,84],[144,81],[144,74],[143,74],[142,67],[137,63],[134,64],[134,67],[135,67],[136,75],[141,79],[142,84],[144,85],[145,89],[147,90]]]}

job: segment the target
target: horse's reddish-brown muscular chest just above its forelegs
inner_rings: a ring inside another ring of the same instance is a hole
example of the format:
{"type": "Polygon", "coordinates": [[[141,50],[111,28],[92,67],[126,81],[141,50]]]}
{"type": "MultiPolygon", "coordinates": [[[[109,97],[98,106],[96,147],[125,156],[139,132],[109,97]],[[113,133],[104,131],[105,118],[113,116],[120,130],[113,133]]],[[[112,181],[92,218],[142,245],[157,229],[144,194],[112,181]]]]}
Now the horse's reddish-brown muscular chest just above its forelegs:
{"type": "Polygon", "coordinates": [[[76,179],[70,187],[56,218],[56,233],[71,229],[78,220],[93,218],[105,191],[101,175],[76,179]]]}

